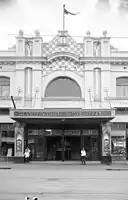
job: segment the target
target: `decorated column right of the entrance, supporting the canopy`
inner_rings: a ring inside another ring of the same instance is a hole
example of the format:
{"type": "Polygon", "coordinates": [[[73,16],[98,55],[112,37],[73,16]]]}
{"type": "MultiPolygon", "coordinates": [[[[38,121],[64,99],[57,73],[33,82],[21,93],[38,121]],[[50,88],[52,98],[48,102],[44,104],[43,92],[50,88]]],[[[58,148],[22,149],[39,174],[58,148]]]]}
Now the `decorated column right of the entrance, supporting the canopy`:
{"type": "Polygon", "coordinates": [[[111,153],[111,123],[101,124],[102,127],[102,162],[107,159],[107,154],[111,153]]]}

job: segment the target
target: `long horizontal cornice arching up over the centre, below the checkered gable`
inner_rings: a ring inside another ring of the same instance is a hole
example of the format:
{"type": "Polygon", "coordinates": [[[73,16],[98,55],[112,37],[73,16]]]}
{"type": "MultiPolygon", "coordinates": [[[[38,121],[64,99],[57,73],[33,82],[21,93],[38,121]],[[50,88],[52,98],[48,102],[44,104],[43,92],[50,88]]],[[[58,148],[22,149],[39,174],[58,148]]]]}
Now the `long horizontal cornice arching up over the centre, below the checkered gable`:
{"type": "Polygon", "coordinates": [[[15,64],[43,64],[53,62],[56,59],[68,59],[73,62],[83,64],[112,64],[112,65],[128,65],[128,57],[77,57],[74,54],[61,52],[52,54],[50,57],[0,57],[0,65],[15,64]]]}

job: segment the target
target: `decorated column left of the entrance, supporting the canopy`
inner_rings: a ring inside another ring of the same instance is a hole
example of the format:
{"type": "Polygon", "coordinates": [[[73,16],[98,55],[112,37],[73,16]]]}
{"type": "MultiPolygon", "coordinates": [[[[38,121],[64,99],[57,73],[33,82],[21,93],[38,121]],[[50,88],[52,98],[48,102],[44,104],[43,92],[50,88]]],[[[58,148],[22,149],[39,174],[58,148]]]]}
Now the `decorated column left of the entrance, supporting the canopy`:
{"type": "Polygon", "coordinates": [[[24,162],[24,124],[15,124],[15,154],[14,162],[24,162]]]}

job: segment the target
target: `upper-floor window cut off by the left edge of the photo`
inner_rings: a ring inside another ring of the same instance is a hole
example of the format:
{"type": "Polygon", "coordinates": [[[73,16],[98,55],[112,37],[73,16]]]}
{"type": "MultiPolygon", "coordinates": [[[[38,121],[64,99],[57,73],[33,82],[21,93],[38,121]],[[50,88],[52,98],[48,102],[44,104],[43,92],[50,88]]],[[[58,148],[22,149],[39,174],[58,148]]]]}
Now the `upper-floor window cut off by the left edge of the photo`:
{"type": "Polygon", "coordinates": [[[8,77],[0,76],[0,96],[10,96],[10,78],[8,77]]]}

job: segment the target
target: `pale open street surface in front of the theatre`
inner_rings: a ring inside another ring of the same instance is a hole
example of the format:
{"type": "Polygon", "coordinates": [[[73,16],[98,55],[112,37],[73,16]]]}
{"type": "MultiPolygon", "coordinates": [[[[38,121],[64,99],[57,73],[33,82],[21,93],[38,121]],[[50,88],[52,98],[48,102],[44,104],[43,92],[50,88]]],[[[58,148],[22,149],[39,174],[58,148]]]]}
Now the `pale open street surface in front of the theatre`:
{"type": "Polygon", "coordinates": [[[101,165],[80,162],[0,163],[0,200],[126,200],[127,164],[101,165]],[[45,163],[45,164],[44,164],[45,163]]]}

